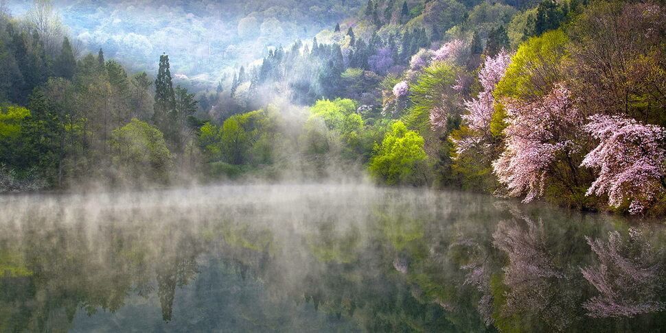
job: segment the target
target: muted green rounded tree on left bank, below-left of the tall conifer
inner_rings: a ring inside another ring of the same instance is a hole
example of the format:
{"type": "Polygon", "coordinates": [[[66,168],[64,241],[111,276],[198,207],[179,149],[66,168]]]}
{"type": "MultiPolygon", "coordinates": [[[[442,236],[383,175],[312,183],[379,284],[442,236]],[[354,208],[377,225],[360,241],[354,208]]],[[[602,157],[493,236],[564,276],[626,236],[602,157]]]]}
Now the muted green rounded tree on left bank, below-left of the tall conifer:
{"type": "Polygon", "coordinates": [[[132,119],[111,133],[113,164],[133,179],[167,180],[172,156],[164,136],[148,123],[132,119]]]}

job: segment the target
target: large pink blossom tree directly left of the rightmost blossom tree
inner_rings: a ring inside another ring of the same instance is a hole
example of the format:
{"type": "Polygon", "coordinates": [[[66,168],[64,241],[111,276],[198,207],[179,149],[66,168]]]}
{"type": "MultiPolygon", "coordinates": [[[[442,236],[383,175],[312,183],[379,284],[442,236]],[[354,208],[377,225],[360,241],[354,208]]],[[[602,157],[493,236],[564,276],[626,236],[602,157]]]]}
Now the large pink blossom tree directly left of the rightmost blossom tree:
{"type": "Polygon", "coordinates": [[[543,195],[549,167],[556,154],[572,145],[571,136],[582,126],[582,116],[562,84],[537,101],[506,101],[505,150],[492,163],[507,194],[523,202],[543,195]]]}

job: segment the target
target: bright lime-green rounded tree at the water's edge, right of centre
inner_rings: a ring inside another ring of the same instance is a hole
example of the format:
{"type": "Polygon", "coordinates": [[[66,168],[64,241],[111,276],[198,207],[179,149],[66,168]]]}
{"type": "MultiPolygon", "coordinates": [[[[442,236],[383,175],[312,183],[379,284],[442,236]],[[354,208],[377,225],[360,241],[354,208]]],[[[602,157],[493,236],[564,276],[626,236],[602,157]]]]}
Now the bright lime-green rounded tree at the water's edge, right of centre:
{"type": "Polygon", "coordinates": [[[423,145],[424,139],[417,132],[407,130],[402,121],[396,121],[382,144],[376,147],[368,169],[389,185],[414,181],[417,168],[426,161],[423,145]]]}

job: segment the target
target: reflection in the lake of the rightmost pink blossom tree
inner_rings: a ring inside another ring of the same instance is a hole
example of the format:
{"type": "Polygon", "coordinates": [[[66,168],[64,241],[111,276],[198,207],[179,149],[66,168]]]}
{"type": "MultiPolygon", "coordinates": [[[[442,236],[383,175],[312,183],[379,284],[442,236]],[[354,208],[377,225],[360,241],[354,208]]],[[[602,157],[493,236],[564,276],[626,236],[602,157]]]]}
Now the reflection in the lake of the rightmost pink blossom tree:
{"type": "Polygon", "coordinates": [[[627,240],[610,232],[606,243],[586,239],[599,257],[599,265],[581,271],[600,294],[583,304],[588,316],[634,317],[666,309],[666,304],[658,301],[664,267],[658,251],[641,232],[630,229],[627,240]]]}

